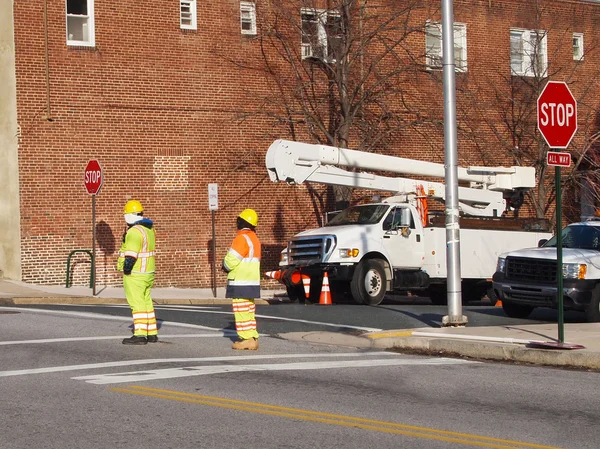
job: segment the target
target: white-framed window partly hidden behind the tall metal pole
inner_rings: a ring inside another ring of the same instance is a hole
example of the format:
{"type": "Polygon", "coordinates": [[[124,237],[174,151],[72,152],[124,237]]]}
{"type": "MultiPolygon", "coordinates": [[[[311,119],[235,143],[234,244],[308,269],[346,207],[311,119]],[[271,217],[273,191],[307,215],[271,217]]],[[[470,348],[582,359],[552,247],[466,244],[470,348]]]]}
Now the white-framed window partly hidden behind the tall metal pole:
{"type": "MultiPolygon", "coordinates": [[[[429,70],[442,68],[442,24],[427,22],[425,25],[426,64],[429,70]]],[[[454,65],[457,72],[467,71],[467,25],[454,24],[454,65]]]]}

